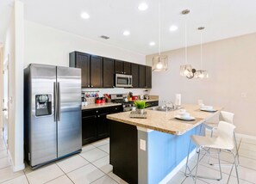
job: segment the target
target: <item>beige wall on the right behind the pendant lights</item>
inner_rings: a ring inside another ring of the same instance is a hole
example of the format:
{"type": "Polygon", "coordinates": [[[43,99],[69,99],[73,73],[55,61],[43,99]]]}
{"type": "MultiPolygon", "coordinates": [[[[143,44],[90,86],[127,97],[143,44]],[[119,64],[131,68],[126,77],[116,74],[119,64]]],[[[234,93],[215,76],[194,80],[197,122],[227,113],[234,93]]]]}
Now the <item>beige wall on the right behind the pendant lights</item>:
{"type": "MultiPolygon", "coordinates": [[[[237,132],[256,136],[255,49],[256,34],[203,44],[203,69],[209,71],[209,78],[203,80],[179,76],[184,48],[165,52],[169,56],[169,70],[153,72],[151,93],[166,101],[173,101],[175,94],[180,93],[183,103],[203,99],[204,104],[224,107],[235,113],[237,132]]],[[[147,56],[147,64],[152,64],[152,58],[153,55],[147,56]]],[[[188,60],[199,68],[200,46],[188,48],[188,60]]]]}

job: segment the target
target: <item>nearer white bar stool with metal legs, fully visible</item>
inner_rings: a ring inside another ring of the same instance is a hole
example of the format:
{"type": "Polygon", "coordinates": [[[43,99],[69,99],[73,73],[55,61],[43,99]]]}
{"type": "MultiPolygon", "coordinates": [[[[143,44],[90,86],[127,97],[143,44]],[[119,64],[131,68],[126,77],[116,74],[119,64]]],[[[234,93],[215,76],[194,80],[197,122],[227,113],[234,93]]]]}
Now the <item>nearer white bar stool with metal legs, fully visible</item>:
{"type": "Polygon", "coordinates": [[[238,171],[237,171],[237,163],[236,163],[236,156],[233,153],[234,149],[234,128],[235,126],[225,122],[225,121],[220,121],[218,124],[218,136],[209,138],[209,137],[204,137],[204,136],[197,136],[197,135],[192,135],[190,137],[190,144],[191,141],[197,146],[197,166],[196,166],[196,173],[195,175],[192,175],[192,170],[188,166],[189,162],[189,155],[190,155],[190,146],[188,150],[188,156],[187,156],[187,162],[186,162],[186,168],[185,168],[185,175],[187,177],[193,177],[195,183],[197,182],[197,178],[204,178],[204,179],[210,179],[210,180],[217,180],[220,181],[222,180],[222,168],[221,168],[221,159],[220,159],[220,152],[222,150],[226,150],[234,156],[234,167],[235,167],[235,172],[237,176],[237,181],[239,183],[239,176],[238,176],[238,171]],[[210,149],[216,149],[217,154],[218,154],[218,161],[219,161],[219,169],[220,169],[220,178],[209,178],[206,176],[198,176],[197,175],[197,169],[198,169],[198,164],[199,164],[199,156],[200,156],[200,151],[205,150],[208,154],[210,154],[210,149]],[[187,170],[189,170],[189,174],[187,175],[187,170]]]}

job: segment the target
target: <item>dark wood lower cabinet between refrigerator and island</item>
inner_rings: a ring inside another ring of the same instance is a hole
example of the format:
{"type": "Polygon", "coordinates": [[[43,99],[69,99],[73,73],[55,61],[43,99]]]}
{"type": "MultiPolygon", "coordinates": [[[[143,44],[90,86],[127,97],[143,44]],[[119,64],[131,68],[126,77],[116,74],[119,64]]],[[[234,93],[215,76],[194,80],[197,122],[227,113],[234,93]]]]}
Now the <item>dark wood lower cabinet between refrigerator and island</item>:
{"type": "Polygon", "coordinates": [[[122,112],[122,106],[101,107],[82,111],[82,142],[89,144],[109,137],[109,113],[122,112]]]}

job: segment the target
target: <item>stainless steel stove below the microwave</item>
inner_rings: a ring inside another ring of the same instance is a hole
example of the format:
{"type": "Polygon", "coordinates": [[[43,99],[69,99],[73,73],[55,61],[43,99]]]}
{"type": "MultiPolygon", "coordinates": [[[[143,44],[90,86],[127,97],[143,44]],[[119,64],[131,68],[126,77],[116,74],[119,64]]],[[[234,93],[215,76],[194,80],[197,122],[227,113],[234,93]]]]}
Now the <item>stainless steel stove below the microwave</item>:
{"type": "Polygon", "coordinates": [[[122,103],[122,111],[131,111],[132,107],[134,107],[134,101],[126,101],[128,100],[127,94],[111,94],[111,101],[113,103],[122,103]]]}

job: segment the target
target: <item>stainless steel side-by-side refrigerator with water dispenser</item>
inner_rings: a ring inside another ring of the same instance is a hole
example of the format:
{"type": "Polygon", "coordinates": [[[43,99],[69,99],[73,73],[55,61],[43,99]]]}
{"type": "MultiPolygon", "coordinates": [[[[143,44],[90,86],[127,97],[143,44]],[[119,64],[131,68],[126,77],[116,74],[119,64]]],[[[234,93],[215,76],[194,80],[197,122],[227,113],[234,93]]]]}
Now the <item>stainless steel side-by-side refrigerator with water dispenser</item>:
{"type": "Polygon", "coordinates": [[[33,168],[81,151],[81,70],[29,64],[24,69],[25,159],[33,168]]]}

